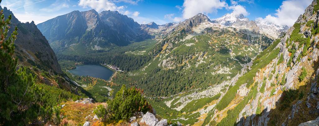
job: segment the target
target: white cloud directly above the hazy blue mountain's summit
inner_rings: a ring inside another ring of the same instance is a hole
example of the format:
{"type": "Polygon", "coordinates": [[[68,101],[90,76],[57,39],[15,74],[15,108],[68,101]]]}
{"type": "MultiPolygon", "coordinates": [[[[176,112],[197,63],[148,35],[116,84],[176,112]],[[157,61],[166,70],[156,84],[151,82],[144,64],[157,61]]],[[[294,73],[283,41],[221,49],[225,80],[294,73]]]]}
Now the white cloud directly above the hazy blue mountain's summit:
{"type": "Polygon", "coordinates": [[[103,11],[103,10],[122,10],[124,6],[116,6],[115,3],[109,0],[80,0],[78,5],[81,7],[90,7],[95,9],[96,11],[103,11]]]}

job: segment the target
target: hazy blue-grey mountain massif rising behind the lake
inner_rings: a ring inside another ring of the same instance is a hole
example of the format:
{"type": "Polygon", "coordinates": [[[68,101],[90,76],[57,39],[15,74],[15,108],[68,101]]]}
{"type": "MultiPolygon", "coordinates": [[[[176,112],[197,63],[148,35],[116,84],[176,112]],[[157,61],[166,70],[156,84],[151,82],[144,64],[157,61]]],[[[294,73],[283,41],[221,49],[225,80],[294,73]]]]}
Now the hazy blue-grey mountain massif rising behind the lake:
{"type": "Polygon", "coordinates": [[[101,50],[149,38],[137,22],[117,11],[72,11],[37,25],[54,50],[101,50]]]}

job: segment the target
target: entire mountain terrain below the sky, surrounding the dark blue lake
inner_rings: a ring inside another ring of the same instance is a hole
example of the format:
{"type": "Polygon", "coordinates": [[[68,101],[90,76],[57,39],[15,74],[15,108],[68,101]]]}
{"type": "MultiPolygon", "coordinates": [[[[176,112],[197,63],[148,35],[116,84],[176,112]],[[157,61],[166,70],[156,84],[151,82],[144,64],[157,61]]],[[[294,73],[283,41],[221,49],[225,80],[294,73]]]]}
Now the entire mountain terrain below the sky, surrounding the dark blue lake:
{"type": "Polygon", "coordinates": [[[317,0],[290,28],[234,13],[138,24],[110,10],[72,11],[35,25],[3,10],[13,17],[10,32],[19,29],[19,67],[36,83],[72,94],[54,105],[63,121],[46,125],[106,125],[115,114],[111,125],[318,125],[317,0]],[[70,73],[80,64],[115,74],[107,81],[70,73]]]}

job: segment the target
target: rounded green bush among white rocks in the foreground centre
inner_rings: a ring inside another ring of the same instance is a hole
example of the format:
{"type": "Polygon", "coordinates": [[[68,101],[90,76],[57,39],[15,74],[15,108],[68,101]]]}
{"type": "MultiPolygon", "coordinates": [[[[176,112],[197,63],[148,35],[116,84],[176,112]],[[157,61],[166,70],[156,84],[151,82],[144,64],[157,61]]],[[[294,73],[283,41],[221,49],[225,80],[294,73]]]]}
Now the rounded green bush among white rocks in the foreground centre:
{"type": "Polygon", "coordinates": [[[94,113],[104,122],[129,119],[134,112],[152,112],[151,105],[143,97],[143,91],[136,88],[126,88],[125,85],[107,101],[108,107],[98,106],[94,113]]]}

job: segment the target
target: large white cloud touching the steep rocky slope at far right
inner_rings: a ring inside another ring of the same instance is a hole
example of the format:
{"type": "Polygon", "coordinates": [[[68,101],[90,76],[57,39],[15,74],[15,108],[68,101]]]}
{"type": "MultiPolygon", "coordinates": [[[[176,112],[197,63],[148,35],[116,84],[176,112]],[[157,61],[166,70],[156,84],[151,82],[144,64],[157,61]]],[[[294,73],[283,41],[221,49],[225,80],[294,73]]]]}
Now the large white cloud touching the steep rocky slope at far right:
{"type": "Polygon", "coordinates": [[[282,2],[274,15],[269,14],[265,18],[259,17],[257,20],[292,26],[311,2],[312,0],[286,0],[282,2]]]}

